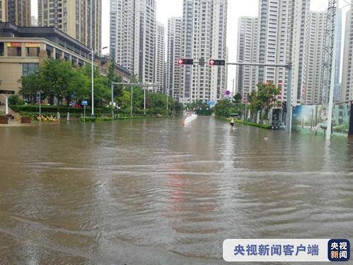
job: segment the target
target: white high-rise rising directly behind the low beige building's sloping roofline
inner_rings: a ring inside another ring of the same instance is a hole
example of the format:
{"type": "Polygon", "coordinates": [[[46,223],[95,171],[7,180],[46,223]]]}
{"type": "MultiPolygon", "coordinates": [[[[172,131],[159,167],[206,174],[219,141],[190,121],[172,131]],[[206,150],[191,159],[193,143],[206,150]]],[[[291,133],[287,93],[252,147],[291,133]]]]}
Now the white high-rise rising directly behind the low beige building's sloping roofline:
{"type": "Polygon", "coordinates": [[[156,1],[110,0],[110,56],[139,77],[155,79],[156,1]]]}

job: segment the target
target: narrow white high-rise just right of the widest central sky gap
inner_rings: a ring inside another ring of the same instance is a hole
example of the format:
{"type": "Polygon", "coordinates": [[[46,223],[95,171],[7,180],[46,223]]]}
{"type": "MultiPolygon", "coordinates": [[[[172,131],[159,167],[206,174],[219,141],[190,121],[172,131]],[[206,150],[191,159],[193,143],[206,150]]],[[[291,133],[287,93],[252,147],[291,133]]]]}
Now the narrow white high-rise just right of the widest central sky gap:
{"type": "MultiPolygon", "coordinates": [[[[257,62],[258,18],[242,16],[238,18],[237,61],[257,62]]],[[[256,67],[237,66],[236,93],[241,93],[243,102],[256,88],[256,67]]]]}

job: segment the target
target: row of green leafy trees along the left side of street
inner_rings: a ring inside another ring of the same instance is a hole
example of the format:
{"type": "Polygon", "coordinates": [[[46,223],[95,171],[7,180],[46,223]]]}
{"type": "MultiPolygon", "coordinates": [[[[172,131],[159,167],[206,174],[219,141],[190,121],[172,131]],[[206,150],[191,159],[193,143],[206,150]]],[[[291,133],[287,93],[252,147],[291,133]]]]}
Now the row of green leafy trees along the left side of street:
{"type": "MultiPolygon", "coordinates": [[[[19,94],[25,102],[36,104],[41,92],[44,100],[50,105],[68,107],[71,103],[81,103],[88,100],[91,105],[91,66],[71,66],[70,61],[45,59],[35,73],[22,76],[18,81],[21,83],[19,94]]],[[[120,76],[114,74],[114,66],[109,67],[108,75],[103,76],[97,69],[93,71],[94,83],[94,105],[96,107],[109,107],[111,101],[111,82],[121,83],[120,76]]],[[[136,76],[130,78],[131,83],[139,83],[136,76]]],[[[130,112],[130,87],[117,85],[113,87],[114,101],[120,107],[119,112],[130,112]]],[[[146,110],[148,114],[172,114],[180,113],[183,105],[168,98],[168,110],[166,108],[167,97],[161,93],[150,93],[146,91],[146,110]]],[[[116,109],[117,110],[117,109],[116,109]]],[[[144,90],[139,87],[133,88],[133,112],[141,114],[144,112],[144,90]]]]}

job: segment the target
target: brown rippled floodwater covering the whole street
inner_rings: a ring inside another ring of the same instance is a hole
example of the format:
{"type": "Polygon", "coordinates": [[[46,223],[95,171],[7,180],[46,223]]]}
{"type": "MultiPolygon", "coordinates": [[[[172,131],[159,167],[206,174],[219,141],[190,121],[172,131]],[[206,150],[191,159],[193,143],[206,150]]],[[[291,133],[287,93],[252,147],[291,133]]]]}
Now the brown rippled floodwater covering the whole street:
{"type": "Polygon", "coordinates": [[[343,137],[63,122],[0,128],[0,151],[1,264],[226,264],[226,238],[353,238],[343,137]]]}

